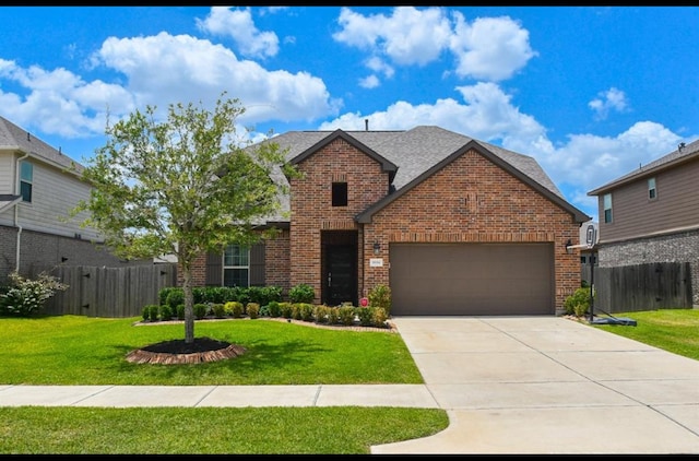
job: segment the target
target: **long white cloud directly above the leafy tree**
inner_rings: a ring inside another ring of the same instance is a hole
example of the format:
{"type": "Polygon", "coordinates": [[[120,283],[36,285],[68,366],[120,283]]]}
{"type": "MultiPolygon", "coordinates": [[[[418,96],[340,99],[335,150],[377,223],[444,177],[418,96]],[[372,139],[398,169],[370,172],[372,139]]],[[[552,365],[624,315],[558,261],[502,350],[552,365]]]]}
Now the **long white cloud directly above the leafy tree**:
{"type": "Polygon", "coordinates": [[[139,105],[164,106],[182,95],[213,103],[222,91],[251,110],[250,121],[313,120],[335,111],[322,80],[307,72],[268,71],[241,61],[227,48],[188,35],[108,38],[102,62],[128,79],[139,105]]]}

